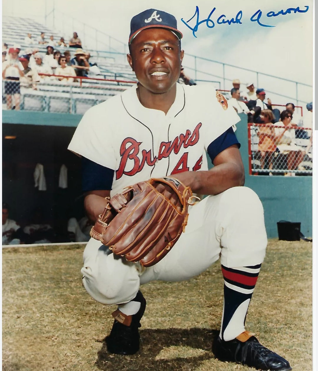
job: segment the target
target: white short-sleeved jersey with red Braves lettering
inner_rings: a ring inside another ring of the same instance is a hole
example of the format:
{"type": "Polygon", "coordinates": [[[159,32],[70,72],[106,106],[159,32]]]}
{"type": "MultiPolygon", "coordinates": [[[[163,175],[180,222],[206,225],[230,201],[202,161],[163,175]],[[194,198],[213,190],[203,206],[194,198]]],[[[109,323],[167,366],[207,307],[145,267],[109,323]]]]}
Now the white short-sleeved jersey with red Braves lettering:
{"type": "Polygon", "coordinates": [[[208,145],[240,120],[213,86],[176,85],[167,115],[144,107],[135,85],[81,119],[68,149],[115,170],[111,196],[150,177],[208,170],[208,145]]]}

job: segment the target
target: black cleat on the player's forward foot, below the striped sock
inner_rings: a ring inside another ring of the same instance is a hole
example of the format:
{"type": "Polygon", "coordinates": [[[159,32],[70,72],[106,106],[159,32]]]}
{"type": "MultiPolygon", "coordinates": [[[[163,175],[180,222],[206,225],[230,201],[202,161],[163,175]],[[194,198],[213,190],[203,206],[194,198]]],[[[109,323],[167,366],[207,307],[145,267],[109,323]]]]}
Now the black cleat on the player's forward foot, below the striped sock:
{"type": "Polygon", "coordinates": [[[245,342],[238,339],[224,341],[217,336],[212,351],[220,361],[241,363],[256,370],[289,371],[292,369],[285,358],[265,348],[255,336],[251,336],[245,342]]]}

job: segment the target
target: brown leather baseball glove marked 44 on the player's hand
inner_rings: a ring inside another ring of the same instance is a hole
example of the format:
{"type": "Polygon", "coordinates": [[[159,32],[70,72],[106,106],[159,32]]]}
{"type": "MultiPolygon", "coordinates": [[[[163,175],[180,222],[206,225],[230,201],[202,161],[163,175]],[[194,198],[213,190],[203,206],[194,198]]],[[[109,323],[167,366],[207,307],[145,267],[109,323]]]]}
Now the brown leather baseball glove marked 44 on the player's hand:
{"type": "Polygon", "coordinates": [[[107,197],[91,229],[116,255],[144,267],[158,263],[177,242],[188,220],[190,187],[175,178],[152,178],[107,197]]]}

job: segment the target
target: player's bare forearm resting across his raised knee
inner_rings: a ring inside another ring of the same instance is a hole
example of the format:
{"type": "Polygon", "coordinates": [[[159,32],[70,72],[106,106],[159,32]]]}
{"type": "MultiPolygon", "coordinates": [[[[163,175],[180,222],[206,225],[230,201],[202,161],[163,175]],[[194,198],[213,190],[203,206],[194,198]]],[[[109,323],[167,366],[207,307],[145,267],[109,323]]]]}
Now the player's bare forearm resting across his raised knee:
{"type": "Polygon", "coordinates": [[[244,185],[244,169],[234,163],[224,163],[208,171],[186,171],[172,175],[185,185],[191,187],[192,192],[198,194],[219,194],[228,188],[244,185]]]}

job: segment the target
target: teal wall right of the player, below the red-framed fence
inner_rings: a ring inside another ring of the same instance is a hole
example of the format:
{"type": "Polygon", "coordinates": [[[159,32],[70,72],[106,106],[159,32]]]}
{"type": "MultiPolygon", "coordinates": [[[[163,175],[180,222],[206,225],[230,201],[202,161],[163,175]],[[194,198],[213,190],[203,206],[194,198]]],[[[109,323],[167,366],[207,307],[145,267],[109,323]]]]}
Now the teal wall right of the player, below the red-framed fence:
{"type": "MultiPolygon", "coordinates": [[[[268,238],[278,237],[277,222],[288,220],[301,223],[301,232],[312,236],[312,177],[249,175],[247,115],[240,114],[236,136],[241,143],[245,168],[245,185],[257,193],[263,203],[268,238]]],[[[243,210],[242,210],[243,212],[243,210]]]]}

